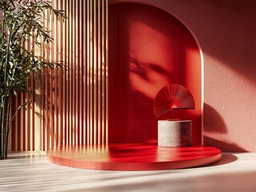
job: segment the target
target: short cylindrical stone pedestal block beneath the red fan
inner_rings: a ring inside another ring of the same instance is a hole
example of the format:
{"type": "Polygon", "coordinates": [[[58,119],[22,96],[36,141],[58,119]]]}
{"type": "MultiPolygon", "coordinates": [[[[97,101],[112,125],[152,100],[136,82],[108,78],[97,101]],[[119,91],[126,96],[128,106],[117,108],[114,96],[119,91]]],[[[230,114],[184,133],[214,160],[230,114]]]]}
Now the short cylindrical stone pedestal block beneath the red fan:
{"type": "Polygon", "coordinates": [[[192,146],[192,121],[158,121],[158,146],[192,146]]]}

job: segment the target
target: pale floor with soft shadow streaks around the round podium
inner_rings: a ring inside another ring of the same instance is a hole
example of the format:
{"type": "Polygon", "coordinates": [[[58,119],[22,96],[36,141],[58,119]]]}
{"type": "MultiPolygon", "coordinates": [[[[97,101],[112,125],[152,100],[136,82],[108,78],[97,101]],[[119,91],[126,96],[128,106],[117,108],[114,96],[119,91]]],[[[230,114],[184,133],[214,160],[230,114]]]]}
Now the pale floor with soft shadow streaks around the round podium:
{"type": "Polygon", "coordinates": [[[214,166],[183,170],[82,170],[47,162],[44,152],[0,161],[0,191],[256,191],[256,154],[225,153],[214,166]]]}

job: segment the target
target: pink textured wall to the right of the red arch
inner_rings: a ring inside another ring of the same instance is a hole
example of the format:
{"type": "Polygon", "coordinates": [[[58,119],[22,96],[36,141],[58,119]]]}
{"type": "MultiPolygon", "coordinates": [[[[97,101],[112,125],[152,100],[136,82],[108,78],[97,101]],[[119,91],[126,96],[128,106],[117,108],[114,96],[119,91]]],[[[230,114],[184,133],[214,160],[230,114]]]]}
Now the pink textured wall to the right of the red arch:
{"type": "Polygon", "coordinates": [[[204,55],[205,145],[256,151],[256,2],[253,0],[110,0],[143,2],[180,18],[204,55]]]}

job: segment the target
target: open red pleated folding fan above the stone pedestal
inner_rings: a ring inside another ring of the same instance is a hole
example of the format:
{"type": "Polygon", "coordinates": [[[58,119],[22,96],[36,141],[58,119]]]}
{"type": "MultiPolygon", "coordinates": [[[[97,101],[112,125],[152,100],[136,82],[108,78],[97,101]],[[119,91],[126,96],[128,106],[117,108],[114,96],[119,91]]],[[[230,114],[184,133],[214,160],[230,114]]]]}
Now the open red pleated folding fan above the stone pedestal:
{"type": "Polygon", "coordinates": [[[193,95],[178,84],[164,86],[157,94],[154,101],[154,113],[156,118],[168,113],[173,109],[194,109],[193,95]]]}

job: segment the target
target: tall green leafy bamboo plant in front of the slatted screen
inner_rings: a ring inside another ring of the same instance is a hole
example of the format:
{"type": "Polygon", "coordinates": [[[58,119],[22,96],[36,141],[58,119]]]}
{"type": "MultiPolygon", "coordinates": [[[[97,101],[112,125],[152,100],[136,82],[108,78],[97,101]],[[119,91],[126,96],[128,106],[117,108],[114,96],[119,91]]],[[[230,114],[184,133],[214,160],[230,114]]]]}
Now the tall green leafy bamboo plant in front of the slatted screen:
{"type": "Polygon", "coordinates": [[[62,66],[59,62],[43,60],[35,54],[35,46],[25,45],[33,42],[40,47],[52,42],[43,21],[47,14],[53,14],[61,22],[66,16],[63,10],[55,10],[51,2],[43,0],[1,0],[0,14],[0,159],[4,159],[8,153],[10,124],[16,114],[10,114],[12,98],[21,92],[33,94],[27,83],[33,74],[62,66]]]}

